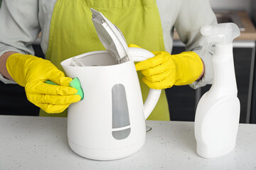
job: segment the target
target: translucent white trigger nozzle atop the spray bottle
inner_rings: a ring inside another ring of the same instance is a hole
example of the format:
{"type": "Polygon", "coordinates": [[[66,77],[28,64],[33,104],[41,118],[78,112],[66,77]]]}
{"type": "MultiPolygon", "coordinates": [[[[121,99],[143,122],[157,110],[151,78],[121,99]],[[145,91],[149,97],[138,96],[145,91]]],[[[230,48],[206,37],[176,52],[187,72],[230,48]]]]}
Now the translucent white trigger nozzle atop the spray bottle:
{"type": "Polygon", "coordinates": [[[210,47],[215,44],[231,44],[240,35],[240,30],[235,23],[218,23],[213,26],[203,26],[201,34],[206,39],[201,55],[206,55],[210,47]]]}

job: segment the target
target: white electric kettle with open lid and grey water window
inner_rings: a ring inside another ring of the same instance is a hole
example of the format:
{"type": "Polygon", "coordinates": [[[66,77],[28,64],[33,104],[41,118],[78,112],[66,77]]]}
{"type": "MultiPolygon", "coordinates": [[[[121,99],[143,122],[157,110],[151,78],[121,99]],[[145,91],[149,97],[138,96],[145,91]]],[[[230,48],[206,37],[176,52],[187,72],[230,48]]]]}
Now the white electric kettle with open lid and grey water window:
{"type": "Polygon", "coordinates": [[[60,63],[68,77],[78,77],[85,95],[68,108],[68,143],[82,157],[120,159],[144,145],[145,119],[161,90],[150,89],[143,105],[134,61],[154,55],[141,48],[128,48],[119,29],[102,13],[91,11],[107,50],[87,52],[60,63]]]}

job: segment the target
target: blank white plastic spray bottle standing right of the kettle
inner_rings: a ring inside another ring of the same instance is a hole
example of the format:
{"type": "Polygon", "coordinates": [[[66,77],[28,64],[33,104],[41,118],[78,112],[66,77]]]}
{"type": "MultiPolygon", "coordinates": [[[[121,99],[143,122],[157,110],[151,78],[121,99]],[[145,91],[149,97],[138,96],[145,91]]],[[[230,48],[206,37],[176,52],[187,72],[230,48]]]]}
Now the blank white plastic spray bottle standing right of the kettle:
{"type": "Polygon", "coordinates": [[[212,45],[213,85],[200,99],[196,108],[196,152],[204,158],[220,157],[235,148],[240,118],[240,101],[235,80],[233,40],[240,35],[235,23],[203,26],[206,38],[201,55],[212,45]]]}

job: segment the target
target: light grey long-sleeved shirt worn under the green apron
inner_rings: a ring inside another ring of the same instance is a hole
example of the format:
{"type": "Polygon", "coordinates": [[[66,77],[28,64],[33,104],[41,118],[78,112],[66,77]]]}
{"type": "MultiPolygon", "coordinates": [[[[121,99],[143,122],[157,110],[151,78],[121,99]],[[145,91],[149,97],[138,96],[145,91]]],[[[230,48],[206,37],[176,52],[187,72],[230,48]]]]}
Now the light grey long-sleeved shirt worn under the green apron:
{"type": "MultiPolygon", "coordinates": [[[[50,33],[50,19],[57,0],[4,0],[0,9],[0,56],[4,52],[15,51],[34,55],[32,43],[41,35],[41,47],[46,54],[50,33]]],[[[200,55],[203,37],[200,29],[204,25],[217,23],[215,14],[208,0],[156,0],[164,34],[164,44],[167,52],[173,47],[173,34],[176,28],[180,40],[186,45],[186,50],[200,55]]],[[[210,84],[213,71],[210,63],[210,53],[201,56],[205,64],[205,74],[200,81],[191,86],[210,84]]],[[[4,83],[15,83],[5,79],[4,83]]]]}

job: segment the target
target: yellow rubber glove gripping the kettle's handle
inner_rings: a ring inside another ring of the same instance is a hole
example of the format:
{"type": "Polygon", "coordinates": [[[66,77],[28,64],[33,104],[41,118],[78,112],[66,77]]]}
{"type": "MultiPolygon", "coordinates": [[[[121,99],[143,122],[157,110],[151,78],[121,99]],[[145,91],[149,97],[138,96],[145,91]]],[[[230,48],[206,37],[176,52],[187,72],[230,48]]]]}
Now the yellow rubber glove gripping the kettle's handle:
{"type": "MultiPolygon", "coordinates": [[[[129,47],[138,47],[129,45],[129,47]]],[[[166,89],[171,86],[191,84],[203,72],[203,62],[196,52],[181,52],[170,55],[169,52],[153,52],[155,57],[144,60],[135,65],[141,70],[142,80],[151,89],[166,89]]]]}

